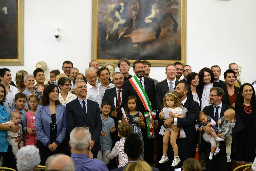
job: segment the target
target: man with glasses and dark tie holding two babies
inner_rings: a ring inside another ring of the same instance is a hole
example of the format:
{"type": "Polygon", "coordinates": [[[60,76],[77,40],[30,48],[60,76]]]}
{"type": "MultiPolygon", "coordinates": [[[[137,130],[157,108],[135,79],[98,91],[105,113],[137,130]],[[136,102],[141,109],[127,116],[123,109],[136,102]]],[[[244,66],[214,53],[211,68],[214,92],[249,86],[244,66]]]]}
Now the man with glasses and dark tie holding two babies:
{"type": "MultiPolygon", "coordinates": [[[[220,87],[211,88],[209,98],[210,98],[211,105],[205,106],[203,108],[203,112],[207,116],[210,116],[215,122],[218,122],[219,118],[224,116],[224,112],[227,109],[230,109],[230,108],[234,109],[233,107],[222,102],[222,100],[224,98],[224,91],[220,87]]],[[[242,122],[241,118],[239,117],[239,115],[236,114],[235,117],[236,117],[236,124],[235,124],[235,127],[232,129],[232,134],[233,134],[232,147],[236,146],[236,142],[235,142],[235,138],[234,138],[235,134],[238,131],[242,130],[242,128],[243,128],[243,122],[242,122]]],[[[205,133],[207,133],[208,135],[210,135],[212,128],[210,126],[203,126],[203,131],[205,133]]],[[[222,132],[220,134],[220,136],[224,133],[225,132],[222,132]]],[[[204,154],[205,154],[206,170],[207,171],[208,170],[214,171],[216,169],[217,164],[219,167],[219,171],[227,170],[225,141],[220,142],[219,148],[220,148],[220,151],[219,151],[218,155],[213,156],[212,160],[209,160],[208,156],[210,154],[211,144],[208,142],[205,142],[203,138],[201,139],[201,145],[200,145],[199,151],[200,151],[200,153],[204,152],[204,154]]],[[[235,149],[235,148],[232,148],[232,149],[235,149]]],[[[231,153],[234,153],[234,151],[232,151],[231,153]]]]}

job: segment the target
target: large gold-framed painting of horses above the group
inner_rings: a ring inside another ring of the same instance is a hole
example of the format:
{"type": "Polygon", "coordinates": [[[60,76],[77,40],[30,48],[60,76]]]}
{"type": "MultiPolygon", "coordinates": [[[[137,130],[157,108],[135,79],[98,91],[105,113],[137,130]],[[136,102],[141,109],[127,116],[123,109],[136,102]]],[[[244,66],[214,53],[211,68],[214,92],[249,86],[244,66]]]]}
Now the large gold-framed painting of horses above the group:
{"type": "Polygon", "coordinates": [[[186,63],[186,0],[93,0],[92,60],[186,63]]]}

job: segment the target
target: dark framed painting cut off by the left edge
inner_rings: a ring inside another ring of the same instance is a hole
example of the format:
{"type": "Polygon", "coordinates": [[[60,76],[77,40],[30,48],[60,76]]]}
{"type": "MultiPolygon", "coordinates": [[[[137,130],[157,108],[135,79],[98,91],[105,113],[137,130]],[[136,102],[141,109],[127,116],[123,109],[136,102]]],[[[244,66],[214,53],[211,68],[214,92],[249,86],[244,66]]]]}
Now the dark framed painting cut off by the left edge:
{"type": "Polygon", "coordinates": [[[0,65],[24,65],[24,0],[0,0],[0,65]]]}

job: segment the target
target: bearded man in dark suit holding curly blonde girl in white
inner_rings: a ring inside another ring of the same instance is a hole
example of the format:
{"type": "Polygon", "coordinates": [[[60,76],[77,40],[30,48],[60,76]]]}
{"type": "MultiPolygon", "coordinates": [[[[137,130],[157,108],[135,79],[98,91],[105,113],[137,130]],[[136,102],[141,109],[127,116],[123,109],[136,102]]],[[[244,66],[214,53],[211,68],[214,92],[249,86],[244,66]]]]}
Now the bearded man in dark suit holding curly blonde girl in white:
{"type": "MultiPolygon", "coordinates": [[[[182,166],[182,162],[187,158],[194,158],[196,154],[196,146],[198,141],[198,132],[195,130],[195,123],[199,113],[198,102],[187,98],[189,85],[187,83],[179,83],[174,92],[178,94],[181,105],[187,108],[185,118],[169,118],[164,121],[165,126],[170,126],[175,132],[180,130],[176,143],[179,147],[179,157],[181,162],[176,167],[182,166]]],[[[174,114],[174,113],[173,113],[174,114]]],[[[185,114],[185,113],[184,113],[185,114]]],[[[171,145],[168,148],[169,161],[173,160],[173,149],[171,145]]],[[[171,168],[171,162],[167,162],[166,168],[171,168]]]]}

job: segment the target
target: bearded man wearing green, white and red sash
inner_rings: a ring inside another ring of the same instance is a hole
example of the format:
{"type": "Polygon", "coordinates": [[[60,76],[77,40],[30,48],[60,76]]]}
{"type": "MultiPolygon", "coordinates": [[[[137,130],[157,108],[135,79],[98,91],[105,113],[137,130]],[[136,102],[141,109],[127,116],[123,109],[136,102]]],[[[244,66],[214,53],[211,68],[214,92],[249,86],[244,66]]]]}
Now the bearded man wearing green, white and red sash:
{"type": "MultiPolygon", "coordinates": [[[[137,60],[133,63],[133,72],[135,73],[135,75],[132,78],[130,78],[128,81],[124,82],[121,107],[125,108],[126,99],[130,95],[134,95],[138,99],[138,110],[141,113],[143,113],[143,115],[144,115],[144,112],[146,112],[146,111],[148,112],[149,109],[151,111],[155,110],[154,81],[152,79],[149,79],[144,76],[144,64],[141,60],[137,60]],[[138,90],[143,93],[140,93],[138,90]],[[144,92],[145,92],[145,94],[144,94],[144,92]],[[145,103],[147,103],[149,107],[145,106],[145,103]]],[[[144,116],[144,122],[146,124],[147,121],[146,121],[145,117],[146,116],[144,116]]],[[[155,116],[152,116],[150,113],[149,117],[150,117],[150,121],[153,121],[152,118],[155,116]]],[[[157,118],[157,117],[155,117],[155,118],[157,118]]],[[[155,127],[155,129],[158,127],[158,122],[156,120],[154,120],[154,123],[151,123],[150,126],[152,126],[152,124],[154,124],[154,126],[152,127],[151,130],[154,130],[153,129],[154,127],[155,127]]],[[[148,162],[151,165],[154,165],[154,162],[155,162],[155,160],[154,160],[154,138],[152,138],[153,136],[151,136],[151,134],[148,135],[147,128],[149,128],[148,125],[145,129],[142,129],[142,135],[143,135],[143,139],[145,142],[144,156],[145,156],[146,162],[148,162]],[[148,136],[149,136],[149,138],[148,138],[148,136]]]]}

